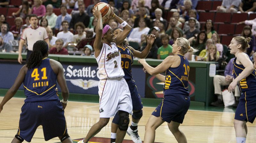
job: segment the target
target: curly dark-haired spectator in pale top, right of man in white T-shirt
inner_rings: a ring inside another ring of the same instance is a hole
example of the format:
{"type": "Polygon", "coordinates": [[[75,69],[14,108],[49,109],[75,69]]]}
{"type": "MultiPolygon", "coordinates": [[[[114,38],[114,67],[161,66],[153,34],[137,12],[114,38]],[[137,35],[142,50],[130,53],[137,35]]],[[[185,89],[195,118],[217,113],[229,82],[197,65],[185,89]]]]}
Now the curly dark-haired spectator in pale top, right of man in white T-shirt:
{"type": "Polygon", "coordinates": [[[84,39],[86,37],[86,35],[84,33],[84,28],[85,28],[85,26],[82,22],[76,23],[75,30],[76,30],[77,34],[73,36],[71,43],[78,44],[79,41],[81,41],[82,39],[84,39]]]}

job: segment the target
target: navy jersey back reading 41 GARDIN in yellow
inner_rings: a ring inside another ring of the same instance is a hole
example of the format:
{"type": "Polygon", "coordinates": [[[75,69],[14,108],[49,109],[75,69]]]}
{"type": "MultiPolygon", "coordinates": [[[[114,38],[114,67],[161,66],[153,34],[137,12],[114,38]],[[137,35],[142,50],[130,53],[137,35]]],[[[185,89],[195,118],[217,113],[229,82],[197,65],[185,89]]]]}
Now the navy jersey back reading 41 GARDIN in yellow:
{"type": "Polygon", "coordinates": [[[53,72],[50,59],[44,58],[39,67],[28,69],[24,79],[25,102],[59,100],[56,91],[57,75],[53,72]]]}

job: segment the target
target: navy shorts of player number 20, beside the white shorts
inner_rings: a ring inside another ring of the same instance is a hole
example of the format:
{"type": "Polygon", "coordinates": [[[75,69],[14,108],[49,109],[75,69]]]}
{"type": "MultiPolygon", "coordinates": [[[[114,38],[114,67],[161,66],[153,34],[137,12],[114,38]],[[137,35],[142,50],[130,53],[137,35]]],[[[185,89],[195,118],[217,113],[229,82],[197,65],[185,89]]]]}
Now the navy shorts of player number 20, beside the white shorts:
{"type": "Polygon", "coordinates": [[[126,82],[131,93],[132,110],[139,111],[143,108],[143,105],[135,81],[133,79],[130,79],[128,81],[126,80],[126,82]]]}

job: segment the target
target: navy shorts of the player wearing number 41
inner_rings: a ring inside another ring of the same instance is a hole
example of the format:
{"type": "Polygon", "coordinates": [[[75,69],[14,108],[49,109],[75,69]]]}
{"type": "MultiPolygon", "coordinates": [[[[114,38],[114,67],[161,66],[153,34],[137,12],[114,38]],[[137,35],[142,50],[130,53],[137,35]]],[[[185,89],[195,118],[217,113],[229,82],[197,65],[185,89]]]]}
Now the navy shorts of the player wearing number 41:
{"type": "Polygon", "coordinates": [[[18,129],[20,137],[30,142],[39,125],[43,126],[46,141],[67,132],[64,110],[60,101],[24,103],[18,129]]]}

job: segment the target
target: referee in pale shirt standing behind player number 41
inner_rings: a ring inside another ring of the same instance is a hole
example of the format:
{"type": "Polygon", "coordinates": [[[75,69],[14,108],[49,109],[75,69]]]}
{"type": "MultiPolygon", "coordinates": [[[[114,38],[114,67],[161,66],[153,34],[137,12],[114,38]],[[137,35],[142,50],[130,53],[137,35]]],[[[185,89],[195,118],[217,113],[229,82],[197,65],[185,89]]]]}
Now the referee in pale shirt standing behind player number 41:
{"type": "Polygon", "coordinates": [[[33,45],[36,41],[44,40],[49,45],[49,38],[48,38],[47,32],[44,27],[37,26],[38,19],[35,14],[29,15],[29,23],[31,24],[31,26],[24,29],[22,32],[22,35],[20,37],[19,57],[18,57],[18,62],[20,64],[22,62],[21,51],[22,51],[24,41],[26,39],[27,39],[27,44],[28,44],[27,59],[28,59],[30,53],[33,51],[33,45]]]}

